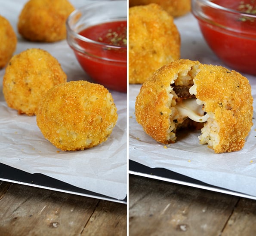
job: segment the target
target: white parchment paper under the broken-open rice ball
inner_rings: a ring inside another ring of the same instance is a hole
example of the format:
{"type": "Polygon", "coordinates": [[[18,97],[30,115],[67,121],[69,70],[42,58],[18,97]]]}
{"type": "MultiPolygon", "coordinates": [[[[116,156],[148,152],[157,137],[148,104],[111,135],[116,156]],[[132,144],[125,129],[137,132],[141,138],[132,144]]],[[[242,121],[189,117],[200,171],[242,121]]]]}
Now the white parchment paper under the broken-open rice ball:
{"type": "MultiPolygon", "coordinates": [[[[225,66],[208,47],[197,21],[188,14],[175,20],[181,35],[181,57],[205,64],[225,66]]],[[[225,66],[227,67],[227,66],[225,66]]],[[[244,74],[252,85],[256,100],[256,77],[244,74]]],[[[181,133],[176,143],[162,145],[142,130],[135,119],[135,100],[140,85],[129,86],[129,158],[151,168],[162,167],[216,187],[256,196],[256,125],[255,120],[241,151],[215,154],[200,145],[198,132],[181,133]]],[[[256,111],[256,104],[254,103],[256,111]]],[[[256,118],[254,112],[253,115],[256,118]]]]}

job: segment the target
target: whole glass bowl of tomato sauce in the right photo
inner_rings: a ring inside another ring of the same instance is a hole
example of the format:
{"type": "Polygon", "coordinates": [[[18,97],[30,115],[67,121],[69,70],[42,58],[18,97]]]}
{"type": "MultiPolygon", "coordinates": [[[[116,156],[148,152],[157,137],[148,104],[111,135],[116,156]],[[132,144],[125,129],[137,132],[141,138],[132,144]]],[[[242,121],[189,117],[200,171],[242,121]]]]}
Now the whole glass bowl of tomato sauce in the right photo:
{"type": "Polygon", "coordinates": [[[229,67],[256,75],[256,1],[192,0],[204,39],[229,67]]]}

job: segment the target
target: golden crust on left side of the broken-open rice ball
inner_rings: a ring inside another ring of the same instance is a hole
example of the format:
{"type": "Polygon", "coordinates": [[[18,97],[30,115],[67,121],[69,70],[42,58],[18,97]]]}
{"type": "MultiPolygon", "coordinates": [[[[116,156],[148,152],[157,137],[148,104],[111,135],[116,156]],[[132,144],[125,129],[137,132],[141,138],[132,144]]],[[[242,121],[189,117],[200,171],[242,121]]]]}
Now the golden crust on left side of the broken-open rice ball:
{"type": "Polygon", "coordinates": [[[158,142],[174,142],[169,138],[170,84],[174,82],[179,71],[189,69],[195,62],[180,59],[164,65],[144,82],[135,103],[136,121],[145,132],[158,142]]]}

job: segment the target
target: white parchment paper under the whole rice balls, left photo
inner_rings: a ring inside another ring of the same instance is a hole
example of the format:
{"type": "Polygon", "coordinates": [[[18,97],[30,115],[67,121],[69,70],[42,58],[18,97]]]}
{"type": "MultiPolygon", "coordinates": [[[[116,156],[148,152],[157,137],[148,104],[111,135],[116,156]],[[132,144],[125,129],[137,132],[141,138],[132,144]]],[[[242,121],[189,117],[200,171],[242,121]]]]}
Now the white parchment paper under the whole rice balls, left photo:
{"type": "MultiPolygon", "coordinates": [[[[0,0],[0,15],[9,20],[18,36],[14,54],[27,48],[43,48],[56,57],[68,81],[93,82],[77,63],[66,40],[33,43],[17,32],[18,16],[26,0],[0,0]]],[[[70,0],[75,7],[90,1],[70,0]]],[[[46,141],[36,124],[36,117],[18,115],[7,107],[2,93],[5,70],[0,70],[0,162],[29,173],[42,173],[68,184],[123,200],[126,197],[126,94],[111,91],[117,106],[118,121],[108,140],[84,151],[59,151],[46,141]]]]}

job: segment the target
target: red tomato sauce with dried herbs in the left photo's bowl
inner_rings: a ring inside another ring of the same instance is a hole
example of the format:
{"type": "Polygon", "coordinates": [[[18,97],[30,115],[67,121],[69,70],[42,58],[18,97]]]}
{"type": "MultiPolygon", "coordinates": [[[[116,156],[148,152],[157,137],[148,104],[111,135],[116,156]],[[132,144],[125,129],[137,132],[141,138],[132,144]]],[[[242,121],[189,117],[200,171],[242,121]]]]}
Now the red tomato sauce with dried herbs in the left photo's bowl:
{"type": "Polygon", "coordinates": [[[76,57],[96,82],[108,89],[127,91],[127,21],[113,21],[97,24],[82,30],[79,34],[100,44],[79,42],[86,54],[76,57]],[[106,48],[106,44],[113,48],[106,48]]]}

